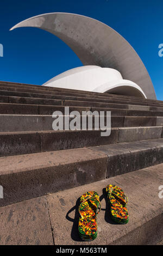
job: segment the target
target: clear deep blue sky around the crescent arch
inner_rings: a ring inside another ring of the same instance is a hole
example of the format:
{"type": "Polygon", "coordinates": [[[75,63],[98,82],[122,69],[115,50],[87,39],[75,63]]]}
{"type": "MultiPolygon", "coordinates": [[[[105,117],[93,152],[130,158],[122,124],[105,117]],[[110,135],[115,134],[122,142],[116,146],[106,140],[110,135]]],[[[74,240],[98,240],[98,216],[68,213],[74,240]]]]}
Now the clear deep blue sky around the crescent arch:
{"type": "Polygon", "coordinates": [[[114,28],[135,48],[163,100],[162,0],[5,0],[0,3],[0,81],[42,84],[81,66],[76,54],[54,35],[36,28],[9,29],[29,17],[52,12],[90,16],[114,28]]]}

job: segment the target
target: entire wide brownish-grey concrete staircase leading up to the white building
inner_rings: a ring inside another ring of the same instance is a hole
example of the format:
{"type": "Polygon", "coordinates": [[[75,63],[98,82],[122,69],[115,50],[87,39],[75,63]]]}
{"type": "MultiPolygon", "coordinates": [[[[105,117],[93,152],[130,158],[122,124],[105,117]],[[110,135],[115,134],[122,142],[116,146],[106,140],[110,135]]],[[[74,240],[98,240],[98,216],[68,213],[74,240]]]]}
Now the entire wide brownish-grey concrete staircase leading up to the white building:
{"type": "Polygon", "coordinates": [[[84,192],[101,195],[111,182],[129,196],[130,221],[114,225],[102,211],[99,235],[86,244],[163,239],[163,101],[0,82],[0,120],[0,244],[85,244],[77,211],[74,221],[67,212],[84,192]],[[52,114],[65,106],[111,111],[111,135],[53,131],[52,114]]]}

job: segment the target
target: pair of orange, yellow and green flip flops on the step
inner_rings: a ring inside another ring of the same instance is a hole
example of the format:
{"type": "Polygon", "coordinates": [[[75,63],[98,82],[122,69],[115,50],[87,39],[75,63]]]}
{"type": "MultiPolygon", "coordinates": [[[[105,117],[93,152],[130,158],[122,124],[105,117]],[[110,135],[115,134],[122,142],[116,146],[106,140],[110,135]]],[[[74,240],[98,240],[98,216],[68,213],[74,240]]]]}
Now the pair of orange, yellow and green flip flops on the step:
{"type": "MultiPolygon", "coordinates": [[[[128,198],[123,190],[115,185],[108,185],[106,186],[106,194],[110,204],[112,220],[119,224],[128,223],[129,217],[126,208],[128,198]]],[[[91,241],[96,239],[97,214],[99,214],[100,210],[101,203],[97,192],[87,192],[80,197],[78,230],[82,240],[91,241]]]]}

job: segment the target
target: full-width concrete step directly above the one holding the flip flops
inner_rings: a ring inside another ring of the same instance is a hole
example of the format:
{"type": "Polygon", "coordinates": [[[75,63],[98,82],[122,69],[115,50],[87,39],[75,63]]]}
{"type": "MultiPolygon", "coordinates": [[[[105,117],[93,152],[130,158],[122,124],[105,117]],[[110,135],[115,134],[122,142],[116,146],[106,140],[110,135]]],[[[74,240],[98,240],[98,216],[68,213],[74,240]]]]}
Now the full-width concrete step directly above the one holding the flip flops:
{"type": "Polygon", "coordinates": [[[163,162],[163,139],[0,158],[4,198],[21,202],[163,162]]]}

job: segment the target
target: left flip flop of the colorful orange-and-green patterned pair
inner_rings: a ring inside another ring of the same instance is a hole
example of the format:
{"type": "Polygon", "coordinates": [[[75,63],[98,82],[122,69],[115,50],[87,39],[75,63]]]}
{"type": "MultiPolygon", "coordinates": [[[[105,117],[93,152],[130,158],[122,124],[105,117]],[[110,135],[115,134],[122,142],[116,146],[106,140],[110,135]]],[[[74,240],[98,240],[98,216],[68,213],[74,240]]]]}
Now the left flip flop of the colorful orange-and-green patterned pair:
{"type": "Polygon", "coordinates": [[[99,201],[98,193],[95,191],[87,192],[80,197],[79,205],[79,236],[84,241],[91,241],[97,237],[97,214],[99,214],[98,206],[101,204],[99,201]]]}

